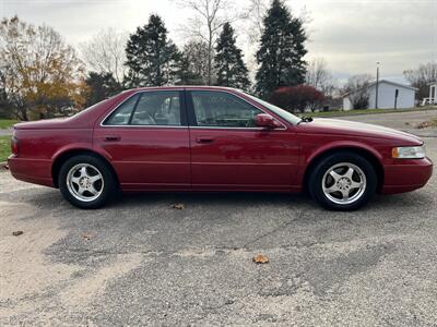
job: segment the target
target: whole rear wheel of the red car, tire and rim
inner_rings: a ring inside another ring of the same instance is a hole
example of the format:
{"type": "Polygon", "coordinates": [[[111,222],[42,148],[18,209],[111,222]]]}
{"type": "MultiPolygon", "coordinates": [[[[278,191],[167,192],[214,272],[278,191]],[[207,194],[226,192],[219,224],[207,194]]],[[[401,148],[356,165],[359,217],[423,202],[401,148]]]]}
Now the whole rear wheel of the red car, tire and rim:
{"type": "Polygon", "coordinates": [[[80,208],[99,208],[116,193],[111,171],[102,159],[94,156],[81,155],[68,159],[58,178],[63,197],[80,208]]]}

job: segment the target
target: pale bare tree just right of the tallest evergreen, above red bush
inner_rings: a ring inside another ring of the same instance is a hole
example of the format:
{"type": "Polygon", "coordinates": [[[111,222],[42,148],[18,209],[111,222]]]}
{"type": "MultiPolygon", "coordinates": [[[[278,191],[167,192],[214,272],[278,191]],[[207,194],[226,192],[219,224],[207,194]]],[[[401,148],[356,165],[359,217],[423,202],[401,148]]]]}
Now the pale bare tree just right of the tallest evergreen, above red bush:
{"type": "Polygon", "coordinates": [[[328,64],[323,58],[317,58],[308,62],[305,83],[316,87],[328,97],[331,97],[335,90],[334,78],[328,70],[328,64]]]}

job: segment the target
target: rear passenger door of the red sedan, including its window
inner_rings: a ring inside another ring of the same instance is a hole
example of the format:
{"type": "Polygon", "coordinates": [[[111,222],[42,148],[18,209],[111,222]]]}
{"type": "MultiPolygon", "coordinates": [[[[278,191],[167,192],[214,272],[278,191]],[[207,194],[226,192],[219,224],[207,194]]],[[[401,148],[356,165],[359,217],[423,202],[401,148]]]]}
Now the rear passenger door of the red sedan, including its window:
{"type": "Polygon", "coordinates": [[[94,132],[123,190],[190,187],[189,132],[182,89],[131,96],[94,132]]]}

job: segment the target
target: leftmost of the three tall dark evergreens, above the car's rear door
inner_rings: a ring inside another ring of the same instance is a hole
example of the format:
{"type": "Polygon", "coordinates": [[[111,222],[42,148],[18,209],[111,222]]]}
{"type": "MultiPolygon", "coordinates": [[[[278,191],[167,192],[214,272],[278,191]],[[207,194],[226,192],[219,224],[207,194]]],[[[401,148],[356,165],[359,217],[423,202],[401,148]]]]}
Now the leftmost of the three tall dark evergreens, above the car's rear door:
{"type": "Polygon", "coordinates": [[[167,39],[167,28],[158,15],[130,35],[126,47],[127,85],[162,86],[177,82],[180,53],[167,39]]]}

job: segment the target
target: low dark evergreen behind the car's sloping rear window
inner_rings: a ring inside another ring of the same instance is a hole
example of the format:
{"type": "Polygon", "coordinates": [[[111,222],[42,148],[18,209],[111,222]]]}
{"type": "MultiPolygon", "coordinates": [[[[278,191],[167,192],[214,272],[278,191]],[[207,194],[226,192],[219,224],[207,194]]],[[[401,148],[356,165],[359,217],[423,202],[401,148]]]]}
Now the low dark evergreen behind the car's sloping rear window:
{"type": "Polygon", "coordinates": [[[122,89],[111,73],[90,72],[85,84],[87,86],[86,107],[111,97],[122,89]]]}

